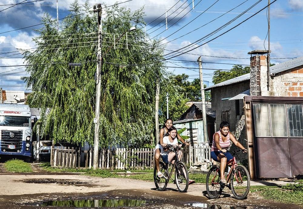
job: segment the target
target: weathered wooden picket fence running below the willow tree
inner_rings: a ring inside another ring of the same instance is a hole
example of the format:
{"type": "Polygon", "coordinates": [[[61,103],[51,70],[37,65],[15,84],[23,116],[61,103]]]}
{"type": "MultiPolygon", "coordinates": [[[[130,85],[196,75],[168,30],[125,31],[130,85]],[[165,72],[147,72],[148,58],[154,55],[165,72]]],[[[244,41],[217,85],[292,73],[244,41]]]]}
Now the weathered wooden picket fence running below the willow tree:
{"type": "MultiPolygon", "coordinates": [[[[76,148],[53,149],[51,166],[57,168],[92,168],[93,148],[81,151],[76,148]]],[[[192,165],[195,162],[210,160],[209,147],[185,147],[182,161],[192,165]]],[[[99,150],[98,167],[100,169],[143,169],[154,167],[154,149],[151,148],[117,148],[99,150]]]]}

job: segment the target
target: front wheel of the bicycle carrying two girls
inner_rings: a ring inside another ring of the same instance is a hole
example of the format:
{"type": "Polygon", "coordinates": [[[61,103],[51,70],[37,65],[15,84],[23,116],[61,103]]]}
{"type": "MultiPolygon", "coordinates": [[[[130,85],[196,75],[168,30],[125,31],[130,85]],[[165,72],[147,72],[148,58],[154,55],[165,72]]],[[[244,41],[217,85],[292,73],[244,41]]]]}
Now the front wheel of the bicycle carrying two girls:
{"type": "Polygon", "coordinates": [[[187,167],[183,162],[178,162],[175,169],[175,183],[180,192],[186,192],[188,189],[189,175],[187,167]]]}

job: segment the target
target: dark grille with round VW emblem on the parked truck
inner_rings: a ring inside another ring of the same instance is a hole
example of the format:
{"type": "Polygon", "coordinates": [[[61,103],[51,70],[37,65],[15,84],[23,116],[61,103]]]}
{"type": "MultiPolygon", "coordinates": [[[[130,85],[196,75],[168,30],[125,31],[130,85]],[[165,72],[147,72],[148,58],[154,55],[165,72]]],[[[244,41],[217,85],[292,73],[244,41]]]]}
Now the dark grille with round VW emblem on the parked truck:
{"type": "Polygon", "coordinates": [[[1,151],[2,152],[21,152],[22,149],[22,131],[1,131],[1,151]],[[14,135],[10,136],[10,133],[14,135]],[[5,151],[4,151],[5,150],[5,151]]]}

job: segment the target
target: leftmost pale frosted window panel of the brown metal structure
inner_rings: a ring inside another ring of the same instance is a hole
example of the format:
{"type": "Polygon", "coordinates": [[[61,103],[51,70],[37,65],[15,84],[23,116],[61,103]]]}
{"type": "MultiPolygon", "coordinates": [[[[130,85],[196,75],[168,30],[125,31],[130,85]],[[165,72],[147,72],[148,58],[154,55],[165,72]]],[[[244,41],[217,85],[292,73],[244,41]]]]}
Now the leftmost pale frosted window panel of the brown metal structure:
{"type": "Polygon", "coordinates": [[[271,136],[268,104],[254,104],[253,108],[256,136],[271,136]]]}

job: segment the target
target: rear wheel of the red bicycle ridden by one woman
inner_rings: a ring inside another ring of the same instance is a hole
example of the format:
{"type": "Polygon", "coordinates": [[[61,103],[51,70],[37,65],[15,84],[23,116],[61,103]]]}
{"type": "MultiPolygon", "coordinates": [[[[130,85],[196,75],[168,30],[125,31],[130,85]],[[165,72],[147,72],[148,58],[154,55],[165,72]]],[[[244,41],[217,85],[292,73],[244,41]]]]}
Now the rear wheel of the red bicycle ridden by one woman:
{"type": "Polygon", "coordinates": [[[206,192],[210,199],[219,198],[222,193],[220,186],[220,169],[213,166],[206,175],[206,192]]]}

